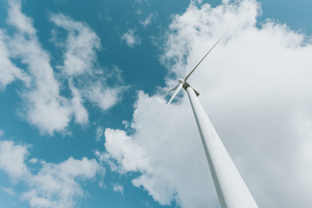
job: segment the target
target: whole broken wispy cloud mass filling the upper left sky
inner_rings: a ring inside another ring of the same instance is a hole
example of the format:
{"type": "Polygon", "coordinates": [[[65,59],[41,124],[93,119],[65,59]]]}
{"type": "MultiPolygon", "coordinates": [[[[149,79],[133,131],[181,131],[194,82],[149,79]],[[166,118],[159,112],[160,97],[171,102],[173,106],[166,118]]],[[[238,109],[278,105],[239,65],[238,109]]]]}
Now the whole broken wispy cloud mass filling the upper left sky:
{"type": "Polygon", "coordinates": [[[25,120],[37,126],[41,133],[66,133],[73,118],[80,125],[89,122],[84,107],[86,100],[102,110],[120,100],[121,82],[115,86],[106,84],[107,77],[119,69],[98,66],[96,53],[100,50],[100,38],[88,25],[63,14],[51,15],[50,21],[56,28],[67,31],[66,41],[60,41],[56,35],[51,39],[64,51],[63,64],[52,66],[51,55],[41,46],[33,20],[21,11],[21,2],[8,1],[7,4],[7,24],[14,28],[14,34],[7,36],[5,31],[0,31],[0,87],[4,89],[16,79],[25,83],[26,88],[21,90],[24,107],[20,112],[25,120]],[[25,71],[11,59],[26,65],[25,71]],[[54,67],[60,72],[55,72],[54,67]],[[68,83],[69,93],[62,92],[66,88],[64,83],[68,83]]]}

